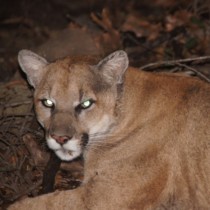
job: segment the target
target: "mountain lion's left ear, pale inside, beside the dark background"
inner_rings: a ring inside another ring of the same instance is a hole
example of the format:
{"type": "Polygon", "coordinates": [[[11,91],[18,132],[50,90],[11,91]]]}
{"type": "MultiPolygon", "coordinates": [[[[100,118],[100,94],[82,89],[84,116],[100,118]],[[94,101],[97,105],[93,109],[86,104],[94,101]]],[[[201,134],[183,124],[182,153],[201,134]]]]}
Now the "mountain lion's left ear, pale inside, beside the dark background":
{"type": "Polygon", "coordinates": [[[26,73],[29,84],[35,88],[41,81],[44,73],[43,68],[48,62],[45,58],[30,50],[21,50],[18,53],[18,62],[21,69],[26,73]]]}

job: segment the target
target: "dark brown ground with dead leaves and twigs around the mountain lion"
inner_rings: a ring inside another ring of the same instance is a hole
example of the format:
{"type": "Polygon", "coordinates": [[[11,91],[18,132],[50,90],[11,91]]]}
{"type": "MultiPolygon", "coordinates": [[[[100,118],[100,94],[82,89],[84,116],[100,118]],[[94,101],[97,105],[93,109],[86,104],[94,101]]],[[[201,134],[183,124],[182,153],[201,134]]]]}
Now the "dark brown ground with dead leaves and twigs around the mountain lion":
{"type": "MultiPolygon", "coordinates": [[[[19,50],[30,49],[53,61],[123,49],[130,64],[145,71],[184,72],[210,82],[208,0],[0,3],[0,209],[24,196],[37,196],[50,159],[34,116],[32,90],[18,66],[19,50]]],[[[55,173],[54,189],[77,187],[82,160],[62,163],[55,173]]]]}

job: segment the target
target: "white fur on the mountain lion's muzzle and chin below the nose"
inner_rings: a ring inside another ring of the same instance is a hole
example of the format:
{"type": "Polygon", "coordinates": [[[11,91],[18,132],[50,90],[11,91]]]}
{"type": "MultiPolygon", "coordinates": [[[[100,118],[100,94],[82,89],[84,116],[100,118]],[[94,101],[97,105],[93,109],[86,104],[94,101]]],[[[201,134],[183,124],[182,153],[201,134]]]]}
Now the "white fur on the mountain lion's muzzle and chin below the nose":
{"type": "Polygon", "coordinates": [[[82,153],[80,140],[78,139],[73,138],[60,145],[53,138],[49,137],[47,138],[47,144],[61,160],[70,161],[79,157],[82,153]]]}

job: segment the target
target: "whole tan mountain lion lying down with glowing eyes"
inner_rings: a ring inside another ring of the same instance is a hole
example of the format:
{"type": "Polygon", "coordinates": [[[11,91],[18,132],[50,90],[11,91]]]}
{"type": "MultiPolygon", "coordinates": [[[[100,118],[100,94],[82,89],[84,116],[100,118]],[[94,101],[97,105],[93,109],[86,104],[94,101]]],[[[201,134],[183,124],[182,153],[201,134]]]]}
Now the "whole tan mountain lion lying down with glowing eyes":
{"type": "Polygon", "coordinates": [[[129,67],[116,51],[48,63],[22,50],[37,119],[58,157],[84,157],[83,184],[10,210],[209,210],[210,85],[129,67]]]}

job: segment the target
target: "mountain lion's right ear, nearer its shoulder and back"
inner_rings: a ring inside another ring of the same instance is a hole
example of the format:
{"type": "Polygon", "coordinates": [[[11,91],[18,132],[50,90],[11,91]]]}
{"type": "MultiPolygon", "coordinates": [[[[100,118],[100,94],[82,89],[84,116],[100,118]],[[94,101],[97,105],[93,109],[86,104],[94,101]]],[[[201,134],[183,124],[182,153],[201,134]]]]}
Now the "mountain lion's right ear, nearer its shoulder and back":
{"type": "Polygon", "coordinates": [[[104,79],[110,84],[123,83],[123,76],[128,68],[128,56],[123,50],[115,51],[101,60],[97,68],[102,72],[104,79]]]}

